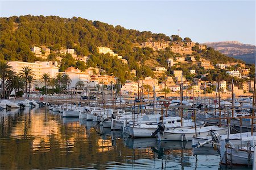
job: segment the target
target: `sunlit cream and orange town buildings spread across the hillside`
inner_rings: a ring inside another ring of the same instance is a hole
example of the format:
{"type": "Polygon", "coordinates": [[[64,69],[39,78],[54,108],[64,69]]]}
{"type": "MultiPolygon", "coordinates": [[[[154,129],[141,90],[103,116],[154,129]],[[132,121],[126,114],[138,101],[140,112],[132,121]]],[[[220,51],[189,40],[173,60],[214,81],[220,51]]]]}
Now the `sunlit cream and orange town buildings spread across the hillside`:
{"type": "MultiPolygon", "coordinates": [[[[215,94],[218,88],[218,82],[216,81],[205,81],[204,77],[207,76],[207,73],[200,74],[196,69],[190,69],[189,74],[195,78],[192,80],[186,80],[186,74],[179,69],[179,64],[187,65],[196,65],[197,67],[203,68],[205,71],[210,71],[212,69],[224,70],[225,73],[229,76],[236,77],[243,80],[243,83],[240,87],[233,86],[234,93],[236,95],[249,94],[253,91],[253,80],[250,80],[249,73],[250,69],[246,68],[243,63],[217,63],[213,65],[211,61],[206,59],[195,59],[195,56],[192,55],[192,48],[196,46],[196,43],[182,43],[169,45],[169,42],[144,42],[141,45],[141,48],[150,47],[154,50],[170,48],[172,52],[179,53],[179,57],[168,58],[166,63],[168,68],[165,67],[155,67],[154,68],[154,77],[144,77],[136,80],[136,70],[131,70],[130,74],[134,77],[134,80],[126,80],[122,84],[121,92],[122,94],[137,94],[139,90],[146,92],[150,90],[150,93],[154,89],[155,92],[164,92],[170,95],[179,94],[181,91],[181,84],[183,84],[183,90],[188,95],[199,95],[208,93],[215,94]],[[183,47],[185,45],[185,47],[183,47]],[[230,68],[236,68],[232,70],[230,68]],[[167,70],[172,69],[171,76],[167,76],[167,70]],[[164,79],[163,79],[164,77],[164,79]],[[161,79],[162,78],[162,79],[161,79]],[[206,90],[206,89],[213,90],[206,90]]],[[[200,49],[205,49],[205,45],[199,45],[200,49]]],[[[110,57],[117,57],[121,60],[122,64],[127,64],[127,60],[123,59],[122,56],[114,53],[114,51],[108,47],[97,47],[98,53],[100,54],[109,54],[110,57]]],[[[47,60],[47,56],[52,53],[52,51],[47,47],[32,47],[31,51],[35,53],[36,57],[41,57],[47,60]]],[[[56,53],[56,52],[55,52],[56,53]]],[[[75,49],[61,49],[57,51],[60,54],[71,54],[73,59],[77,61],[82,61],[86,65],[88,56],[77,56],[75,49]]],[[[106,74],[104,69],[97,67],[88,67],[84,71],[81,71],[75,67],[69,67],[63,72],[59,72],[60,61],[62,57],[56,57],[58,61],[35,61],[35,63],[27,63],[23,61],[9,61],[8,64],[13,68],[13,71],[16,73],[22,72],[24,67],[29,67],[35,73],[35,81],[31,84],[30,91],[34,92],[36,88],[43,88],[44,84],[40,81],[40,78],[43,74],[48,74],[49,78],[55,78],[55,76],[60,74],[66,74],[71,79],[70,84],[68,85],[68,90],[75,91],[78,90],[77,82],[82,82],[82,89],[86,90],[95,90],[98,85],[111,86],[113,84],[118,84],[118,77],[114,77],[113,74],[106,74]]],[[[1,81],[2,82],[2,81],[1,81]]],[[[49,88],[49,87],[47,87],[49,88]]],[[[80,86],[81,88],[81,86],[80,86]]],[[[80,89],[81,90],[81,89],[80,89]]],[[[232,84],[228,84],[225,80],[220,81],[220,90],[223,94],[229,94],[232,90],[232,84]]],[[[149,92],[148,92],[149,93],[149,92]]]]}

